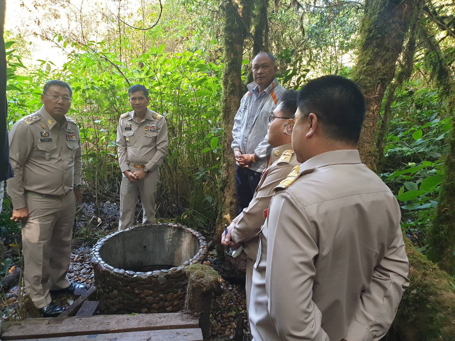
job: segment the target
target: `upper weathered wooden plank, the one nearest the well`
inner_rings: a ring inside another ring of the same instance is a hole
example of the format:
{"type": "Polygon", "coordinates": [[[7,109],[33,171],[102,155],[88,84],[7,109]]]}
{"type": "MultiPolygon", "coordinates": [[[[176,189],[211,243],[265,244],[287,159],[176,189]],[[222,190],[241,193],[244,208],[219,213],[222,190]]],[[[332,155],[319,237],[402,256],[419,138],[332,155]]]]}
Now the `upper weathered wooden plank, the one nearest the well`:
{"type": "Polygon", "coordinates": [[[5,324],[2,340],[24,340],[43,337],[199,327],[198,318],[184,313],[97,315],[87,317],[67,316],[28,319],[21,322],[5,324]],[[45,320],[47,320],[47,324],[45,324],[45,320]]]}

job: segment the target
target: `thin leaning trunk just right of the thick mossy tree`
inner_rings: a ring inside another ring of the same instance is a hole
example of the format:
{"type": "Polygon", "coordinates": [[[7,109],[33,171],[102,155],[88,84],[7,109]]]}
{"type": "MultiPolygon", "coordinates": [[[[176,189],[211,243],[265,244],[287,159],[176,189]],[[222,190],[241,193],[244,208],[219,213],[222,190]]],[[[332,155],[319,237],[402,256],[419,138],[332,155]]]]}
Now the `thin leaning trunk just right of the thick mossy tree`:
{"type": "Polygon", "coordinates": [[[408,42],[404,47],[403,54],[401,57],[401,69],[397,73],[395,80],[390,84],[387,97],[384,105],[384,115],[382,116],[381,126],[378,131],[378,138],[376,145],[379,153],[379,165],[382,163],[384,157],[384,140],[388,131],[389,117],[391,113],[391,105],[394,100],[395,90],[401,86],[404,81],[409,80],[412,71],[414,70],[414,54],[415,54],[415,31],[417,29],[417,22],[419,20],[420,10],[422,9],[423,0],[419,0],[413,10],[413,14],[410,20],[410,27],[408,31],[408,42]]]}

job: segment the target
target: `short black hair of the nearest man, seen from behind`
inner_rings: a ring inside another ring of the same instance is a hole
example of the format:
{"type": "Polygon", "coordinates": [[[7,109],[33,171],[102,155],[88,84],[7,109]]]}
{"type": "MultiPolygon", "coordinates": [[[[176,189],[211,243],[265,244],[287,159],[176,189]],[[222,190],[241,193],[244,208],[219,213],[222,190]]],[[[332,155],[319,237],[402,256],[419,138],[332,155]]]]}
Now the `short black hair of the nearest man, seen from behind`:
{"type": "Polygon", "coordinates": [[[300,115],[314,113],[330,139],[357,144],[365,119],[365,98],[359,86],[342,76],[310,80],[298,92],[300,115]]]}

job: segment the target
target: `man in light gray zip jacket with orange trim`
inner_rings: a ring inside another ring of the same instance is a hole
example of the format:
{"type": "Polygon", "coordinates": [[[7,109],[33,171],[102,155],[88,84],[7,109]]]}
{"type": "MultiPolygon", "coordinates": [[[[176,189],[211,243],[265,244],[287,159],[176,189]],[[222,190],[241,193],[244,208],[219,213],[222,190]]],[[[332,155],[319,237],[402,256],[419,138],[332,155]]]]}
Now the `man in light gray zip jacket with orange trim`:
{"type": "Polygon", "coordinates": [[[277,106],[277,97],[284,91],[275,78],[277,66],[273,55],[259,52],[253,58],[252,67],[254,81],[247,85],[248,92],[240,101],[232,130],[238,214],[253,199],[261,174],[267,167],[272,151],[267,142],[268,117],[277,106]]]}

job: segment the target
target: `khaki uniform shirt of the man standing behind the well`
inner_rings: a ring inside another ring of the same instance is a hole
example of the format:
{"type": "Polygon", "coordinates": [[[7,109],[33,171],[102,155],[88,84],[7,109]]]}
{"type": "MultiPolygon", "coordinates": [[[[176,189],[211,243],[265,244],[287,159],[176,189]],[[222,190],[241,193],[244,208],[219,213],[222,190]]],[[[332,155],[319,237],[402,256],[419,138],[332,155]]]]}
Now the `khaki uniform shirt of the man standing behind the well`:
{"type": "Polygon", "coordinates": [[[167,123],[164,116],[147,108],[139,123],[134,111],[120,116],[117,126],[118,161],[121,172],[131,163],[146,164],[150,170],[159,167],[167,154],[167,123]]]}

